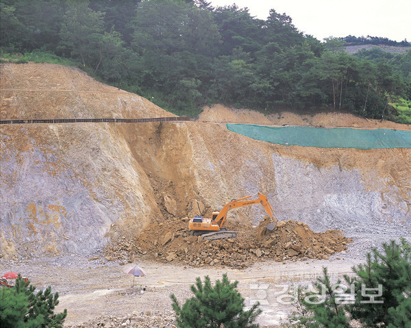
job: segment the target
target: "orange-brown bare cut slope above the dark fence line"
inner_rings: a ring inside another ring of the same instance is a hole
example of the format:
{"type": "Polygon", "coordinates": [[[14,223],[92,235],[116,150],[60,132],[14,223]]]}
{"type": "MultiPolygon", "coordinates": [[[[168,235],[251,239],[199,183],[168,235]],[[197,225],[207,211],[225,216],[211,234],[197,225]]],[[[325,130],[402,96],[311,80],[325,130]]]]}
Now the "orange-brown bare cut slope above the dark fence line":
{"type": "Polygon", "coordinates": [[[1,119],[175,116],[83,71],[53,64],[1,65],[1,119]]]}

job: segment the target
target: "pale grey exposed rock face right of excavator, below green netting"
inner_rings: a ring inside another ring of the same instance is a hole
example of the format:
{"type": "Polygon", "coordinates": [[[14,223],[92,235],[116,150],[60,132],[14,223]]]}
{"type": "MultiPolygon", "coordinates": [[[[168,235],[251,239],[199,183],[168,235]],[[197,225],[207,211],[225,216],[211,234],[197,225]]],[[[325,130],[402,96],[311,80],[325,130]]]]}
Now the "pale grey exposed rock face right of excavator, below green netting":
{"type": "MultiPolygon", "coordinates": [[[[397,151],[397,160],[410,158],[410,152],[397,151]]],[[[367,154],[367,151],[364,153],[364,160],[368,157],[372,163],[373,154],[367,154]]],[[[379,156],[384,158],[389,156],[388,153],[388,150],[384,150],[379,152],[379,156]]],[[[403,189],[406,195],[401,195],[398,186],[390,184],[401,181],[400,184],[405,187],[405,176],[395,179],[380,176],[377,167],[366,168],[369,164],[366,162],[364,169],[347,169],[336,165],[321,167],[279,154],[271,157],[277,172],[277,188],[272,205],[279,218],[306,222],[316,231],[344,229],[347,235],[365,231],[384,233],[397,225],[410,229],[410,190],[403,189]]],[[[386,159],[387,165],[395,165],[394,161],[390,162],[390,159],[386,159]]]]}

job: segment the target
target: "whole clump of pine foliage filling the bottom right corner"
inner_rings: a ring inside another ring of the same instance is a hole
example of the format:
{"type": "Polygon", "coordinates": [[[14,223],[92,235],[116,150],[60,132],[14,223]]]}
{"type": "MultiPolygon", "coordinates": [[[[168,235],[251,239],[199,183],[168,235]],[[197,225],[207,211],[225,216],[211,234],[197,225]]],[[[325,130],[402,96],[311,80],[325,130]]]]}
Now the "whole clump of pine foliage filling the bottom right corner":
{"type": "Polygon", "coordinates": [[[405,238],[382,244],[382,251],[373,248],[353,272],[344,283],[332,283],[323,268],[314,291],[298,290],[298,311],[283,327],[349,328],[352,319],[361,327],[411,327],[411,244],[405,238]]]}

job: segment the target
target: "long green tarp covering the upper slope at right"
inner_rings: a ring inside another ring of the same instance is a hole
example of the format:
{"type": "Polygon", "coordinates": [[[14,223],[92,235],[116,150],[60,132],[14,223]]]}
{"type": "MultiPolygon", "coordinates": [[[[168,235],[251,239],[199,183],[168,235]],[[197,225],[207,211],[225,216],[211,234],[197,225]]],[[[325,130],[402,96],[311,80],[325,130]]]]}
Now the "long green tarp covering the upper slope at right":
{"type": "Polygon", "coordinates": [[[271,128],[249,124],[227,124],[227,129],[252,139],[280,145],[357,149],[411,148],[411,131],[304,126],[271,128]]]}

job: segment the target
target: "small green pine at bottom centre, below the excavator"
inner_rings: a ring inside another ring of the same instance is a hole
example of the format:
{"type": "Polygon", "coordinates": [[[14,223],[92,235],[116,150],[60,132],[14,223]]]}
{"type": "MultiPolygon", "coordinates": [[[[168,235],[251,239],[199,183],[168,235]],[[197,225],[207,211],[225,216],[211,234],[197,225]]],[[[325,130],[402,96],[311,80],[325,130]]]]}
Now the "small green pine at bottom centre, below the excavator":
{"type": "Polygon", "coordinates": [[[171,294],[173,309],[176,314],[177,327],[181,328],[257,328],[254,324],[261,313],[259,303],[244,311],[244,298],[236,290],[238,281],[230,283],[227,274],[223,280],[217,280],[213,286],[210,277],[206,276],[204,283],[197,277],[195,285],[191,286],[194,297],[188,299],[180,307],[177,298],[171,294]]]}

